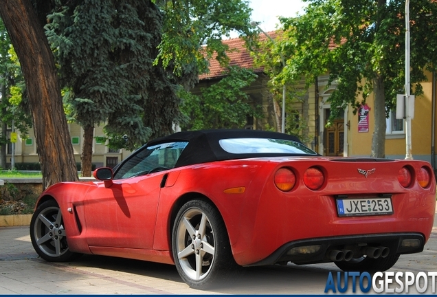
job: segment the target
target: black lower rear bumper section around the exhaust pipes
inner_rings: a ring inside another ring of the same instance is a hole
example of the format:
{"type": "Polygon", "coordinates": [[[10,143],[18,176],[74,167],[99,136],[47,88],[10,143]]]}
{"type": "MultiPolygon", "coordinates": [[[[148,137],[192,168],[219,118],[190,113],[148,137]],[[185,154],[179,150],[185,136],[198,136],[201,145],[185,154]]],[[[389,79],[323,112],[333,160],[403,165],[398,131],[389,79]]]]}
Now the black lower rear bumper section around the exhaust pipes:
{"type": "Polygon", "coordinates": [[[424,245],[425,237],[419,233],[368,234],[304,239],[286,243],[262,261],[247,266],[271,265],[289,261],[296,264],[333,262],[335,261],[333,254],[336,251],[344,254],[348,252],[348,255],[358,258],[363,256],[368,248],[373,250],[384,249],[385,252],[381,256],[412,254],[422,252],[424,245]]]}

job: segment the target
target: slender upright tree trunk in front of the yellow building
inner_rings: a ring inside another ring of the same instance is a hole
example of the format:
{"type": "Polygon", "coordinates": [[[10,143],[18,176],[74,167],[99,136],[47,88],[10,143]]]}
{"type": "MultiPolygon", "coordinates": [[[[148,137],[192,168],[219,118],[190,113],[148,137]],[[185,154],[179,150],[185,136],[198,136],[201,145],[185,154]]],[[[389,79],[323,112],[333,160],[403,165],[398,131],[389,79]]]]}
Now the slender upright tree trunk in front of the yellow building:
{"type": "Polygon", "coordinates": [[[371,157],[385,157],[385,95],[381,76],[373,80],[374,91],[374,131],[371,157]]]}

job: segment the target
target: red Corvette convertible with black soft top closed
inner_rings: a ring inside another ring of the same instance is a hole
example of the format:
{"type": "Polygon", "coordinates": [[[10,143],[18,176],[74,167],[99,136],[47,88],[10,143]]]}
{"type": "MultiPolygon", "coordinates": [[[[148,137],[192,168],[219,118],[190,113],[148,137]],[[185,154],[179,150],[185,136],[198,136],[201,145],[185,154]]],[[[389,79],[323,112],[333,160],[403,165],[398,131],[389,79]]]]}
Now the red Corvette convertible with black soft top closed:
{"type": "Polygon", "coordinates": [[[427,162],[322,157],[267,131],[175,133],[93,175],[39,197],[30,236],[41,258],[174,263],[197,288],[240,266],[388,270],[423,250],[436,204],[427,162]]]}

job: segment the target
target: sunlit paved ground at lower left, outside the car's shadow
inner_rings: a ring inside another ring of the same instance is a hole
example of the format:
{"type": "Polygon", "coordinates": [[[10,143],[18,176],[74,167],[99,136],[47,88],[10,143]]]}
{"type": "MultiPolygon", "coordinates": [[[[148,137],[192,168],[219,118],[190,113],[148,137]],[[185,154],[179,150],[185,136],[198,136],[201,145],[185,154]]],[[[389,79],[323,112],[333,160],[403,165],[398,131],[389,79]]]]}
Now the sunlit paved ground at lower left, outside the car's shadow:
{"type": "Polygon", "coordinates": [[[0,295],[212,294],[188,287],[173,265],[89,255],[46,262],[34,251],[28,226],[1,227],[0,239],[0,295]]]}

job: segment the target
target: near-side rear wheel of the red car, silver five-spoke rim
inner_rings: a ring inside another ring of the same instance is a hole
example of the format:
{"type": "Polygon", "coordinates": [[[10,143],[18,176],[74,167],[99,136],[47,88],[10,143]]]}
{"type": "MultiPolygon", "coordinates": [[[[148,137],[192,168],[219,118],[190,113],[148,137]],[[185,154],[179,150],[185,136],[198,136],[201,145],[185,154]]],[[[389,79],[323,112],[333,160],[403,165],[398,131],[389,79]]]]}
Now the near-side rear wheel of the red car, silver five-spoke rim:
{"type": "Polygon", "coordinates": [[[177,213],[172,252],[177,272],[196,289],[228,283],[239,272],[219,210],[205,200],[188,201],[177,213]]]}

